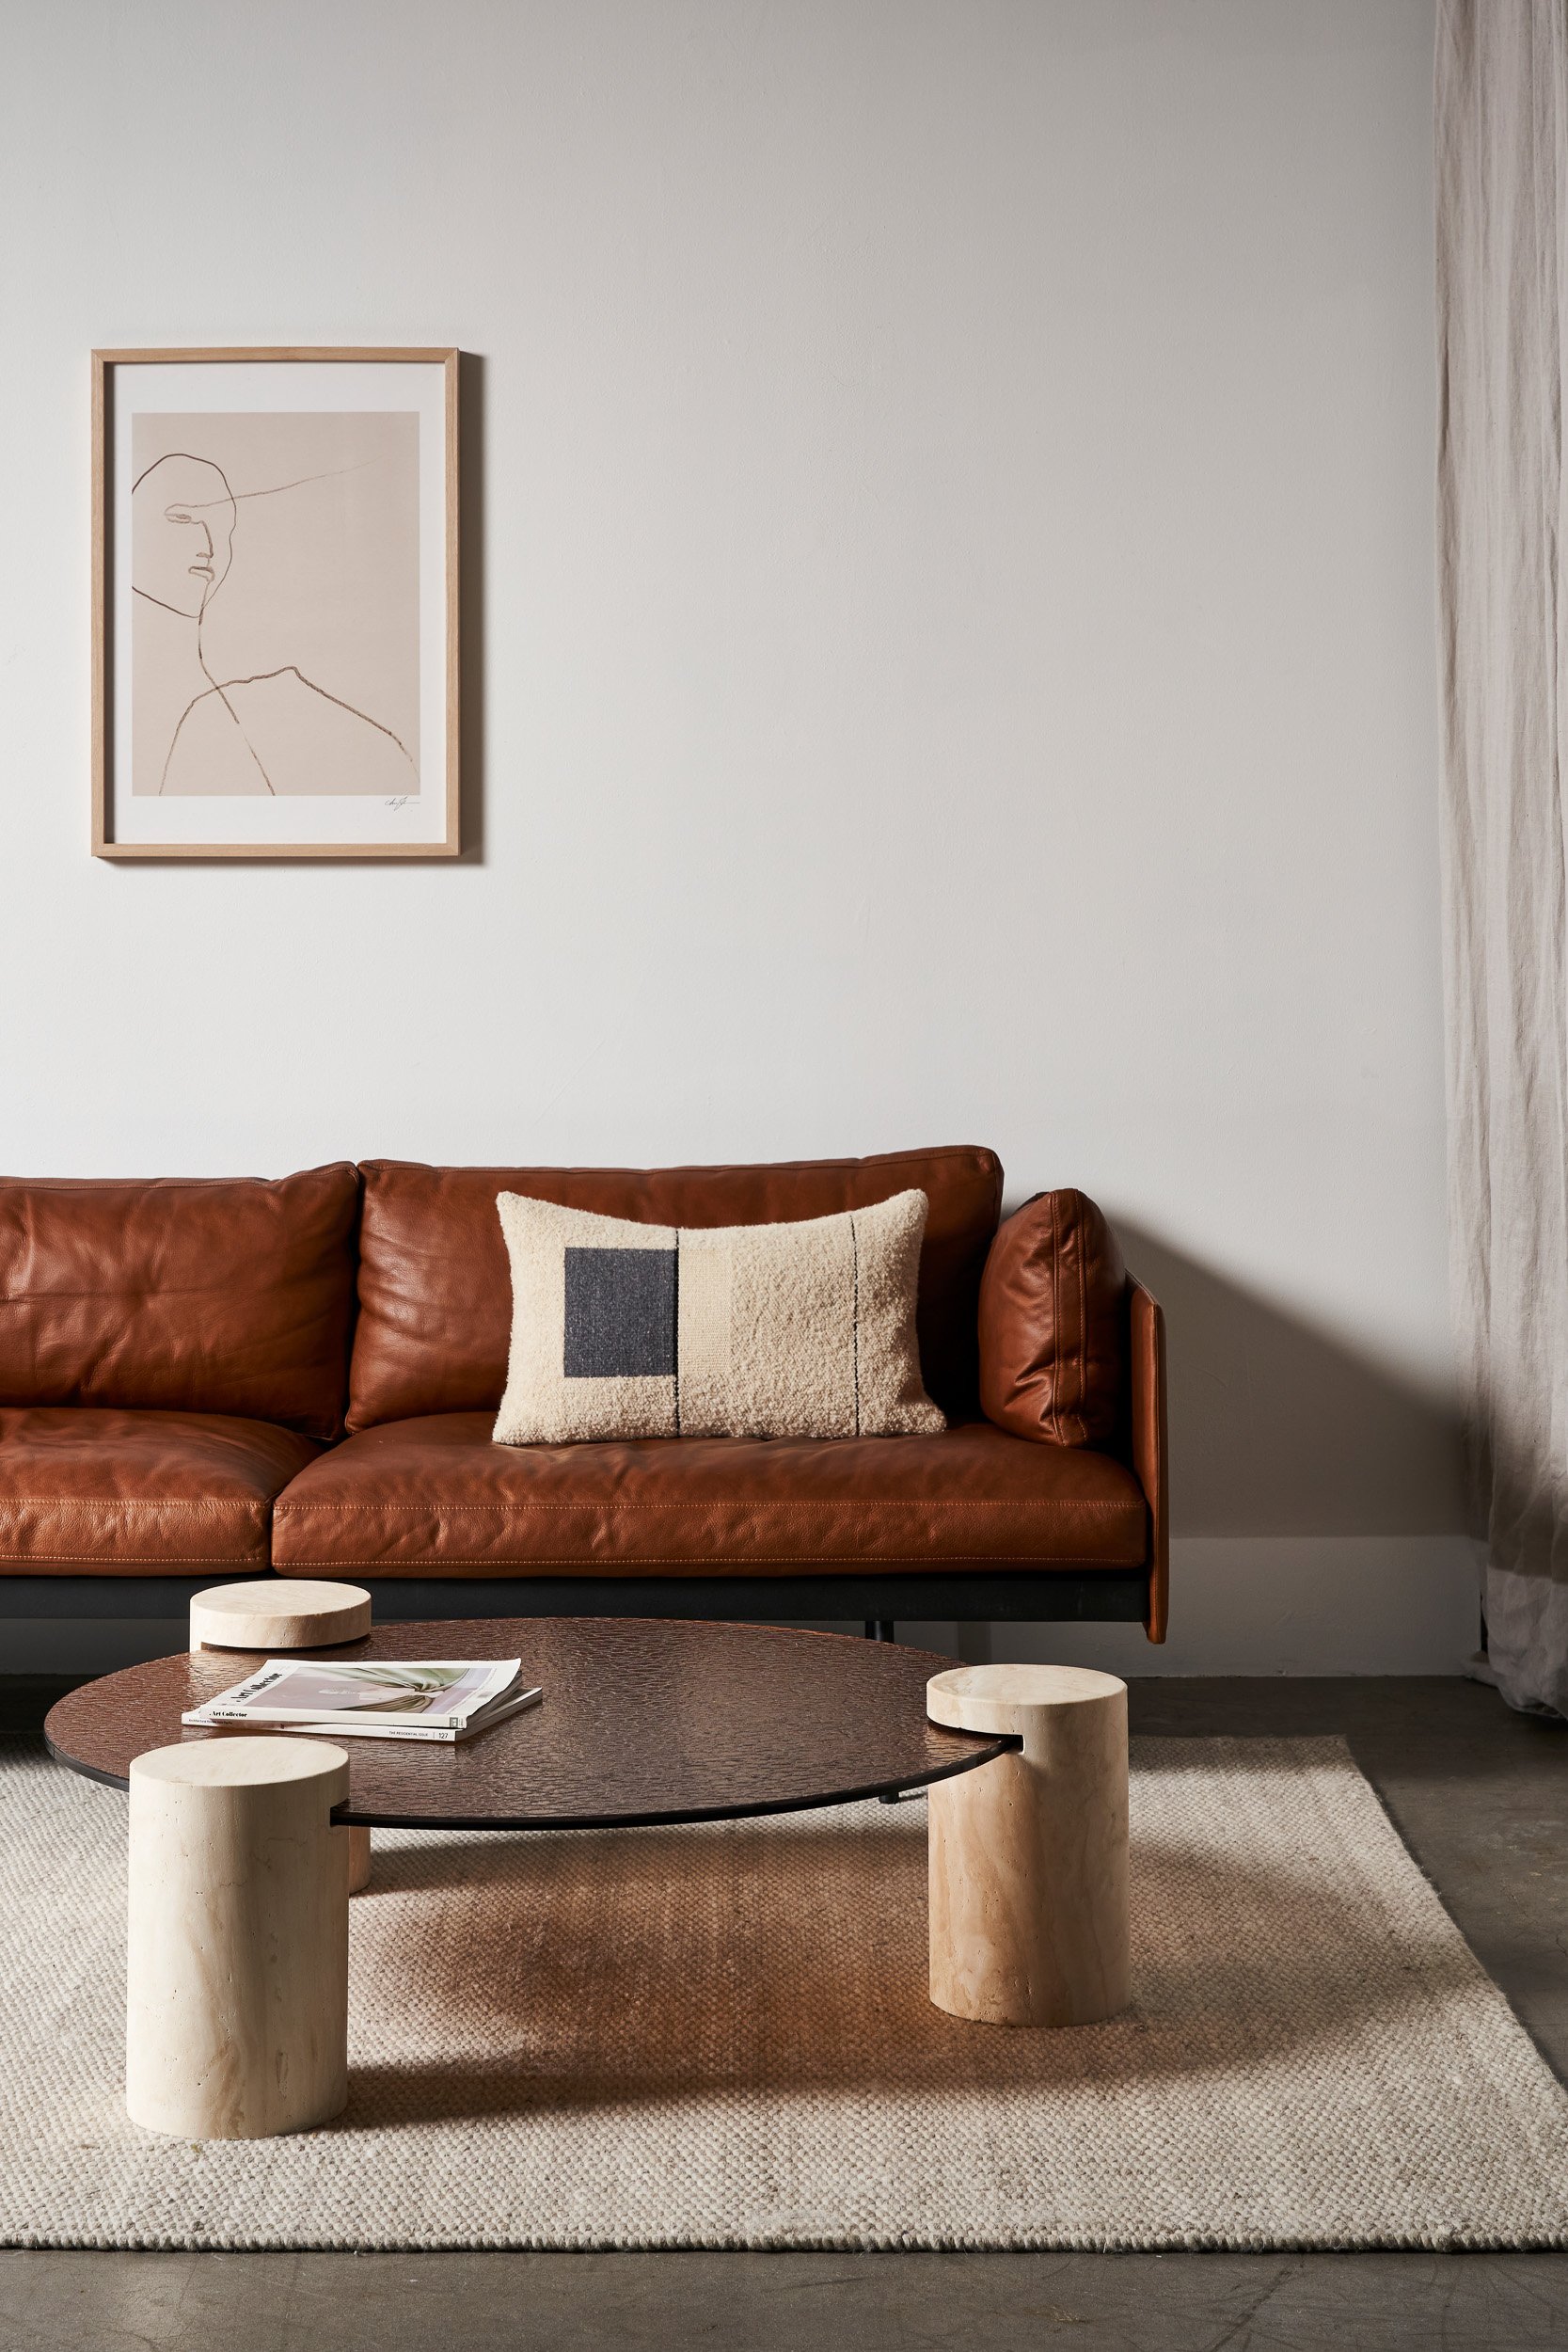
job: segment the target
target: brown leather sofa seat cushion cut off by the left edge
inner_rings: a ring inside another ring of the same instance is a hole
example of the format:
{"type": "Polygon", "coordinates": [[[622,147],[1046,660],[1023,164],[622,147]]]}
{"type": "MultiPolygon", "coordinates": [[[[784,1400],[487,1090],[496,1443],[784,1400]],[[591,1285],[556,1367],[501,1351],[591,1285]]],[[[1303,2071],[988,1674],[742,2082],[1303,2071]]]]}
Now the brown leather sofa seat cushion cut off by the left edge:
{"type": "Polygon", "coordinates": [[[266,1569],[308,1437],[223,1414],[0,1409],[0,1573],[266,1569]]]}

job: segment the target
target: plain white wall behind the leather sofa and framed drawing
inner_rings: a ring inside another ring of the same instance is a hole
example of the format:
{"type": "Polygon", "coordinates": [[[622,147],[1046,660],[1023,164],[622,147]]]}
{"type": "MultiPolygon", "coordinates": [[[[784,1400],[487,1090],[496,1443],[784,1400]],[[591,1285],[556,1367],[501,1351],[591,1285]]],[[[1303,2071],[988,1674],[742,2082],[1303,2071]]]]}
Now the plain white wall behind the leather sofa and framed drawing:
{"type": "Polygon", "coordinates": [[[1190,1623],[1469,1625],[1429,0],[0,24],[0,1164],[987,1141],[1168,1296],[1190,1623]],[[461,866],[87,856],[87,353],[186,341],[480,355],[461,866]]]}

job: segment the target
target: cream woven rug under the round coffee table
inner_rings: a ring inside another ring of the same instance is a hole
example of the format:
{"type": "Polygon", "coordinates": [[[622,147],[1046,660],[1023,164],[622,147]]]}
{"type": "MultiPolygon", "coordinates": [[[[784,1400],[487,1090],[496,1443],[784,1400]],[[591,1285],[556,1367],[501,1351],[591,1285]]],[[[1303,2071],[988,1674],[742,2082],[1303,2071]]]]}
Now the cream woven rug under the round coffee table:
{"type": "Polygon", "coordinates": [[[1140,1740],[1135,2009],[926,2002],[924,1804],[376,1832],[353,2100],[120,2105],[125,1799],[0,1743],[0,2241],[1552,2246],[1568,2096],[1338,1740],[1140,1740]]]}

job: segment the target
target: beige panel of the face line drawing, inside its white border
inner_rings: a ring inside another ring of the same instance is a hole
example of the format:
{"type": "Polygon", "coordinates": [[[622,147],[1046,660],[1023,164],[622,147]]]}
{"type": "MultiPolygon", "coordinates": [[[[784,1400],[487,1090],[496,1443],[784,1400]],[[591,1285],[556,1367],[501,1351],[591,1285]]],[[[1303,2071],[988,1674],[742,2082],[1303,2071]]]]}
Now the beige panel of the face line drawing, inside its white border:
{"type": "MultiPolygon", "coordinates": [[[[129,494],[134,790],[416,795],[414,731],[404,736],[393,724],[397,713],[367,706],[360,687],[362,677],[374,682],[395,668],[397,623],[416,595],[416,506],[407,485],[388,482],[393,459],[357,456],[235,487],[233,459],[223,466],[209,454],[223,435],[207,435],[202,449],[200,416],[158,423],[183,428],[186,447],[162,447],[141,463],[129,494]],[[378,503],[390,508],[390,524],[376,513],[378,503]],[[268,508],[268,527],[256,579],[237,597],[261,508],[268,508]],[[414,517],[411,532],[400,520],[404,510],[414,517]],[[280,647],[294,659],[270,659],[280,647]],[[334,647],[339,666],[355,673],[348,682],[331,675],[334,647]]],[[[212,423],[228,426],[226,437],[240,449],[247,440],[237,428],[252,428],[252,449],[268,447],[256,442],[254,428],[270,428],[270,454],[287,459],[289,428],[411,426],[414,419],[237,416],[212,423]]],[[[146,435],[139,440],[141,456],[146,435]]],[[[331,440],[341,447],[343,433],[331,440]]],[[[409,449],[416,480],[416,435],[409,449]]],[[[414,696],[416,682],[402,701],[416,708],[414,696]]]]}

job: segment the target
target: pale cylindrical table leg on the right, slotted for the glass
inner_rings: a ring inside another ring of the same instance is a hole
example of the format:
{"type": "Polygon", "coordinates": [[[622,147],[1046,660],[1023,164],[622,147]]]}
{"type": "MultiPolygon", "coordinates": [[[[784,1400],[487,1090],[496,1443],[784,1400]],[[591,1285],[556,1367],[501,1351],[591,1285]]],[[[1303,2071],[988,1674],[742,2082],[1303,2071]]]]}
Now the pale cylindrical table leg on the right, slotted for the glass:
{"type": "Polygon", "coordinates": [[[1093,2025],[1131,1999],[1126,1684],[1072,1665],[933,1675],[926,1712],[1018,1755],[931,1788],[931,1999],[987,2025],[1093,2025]]]}

